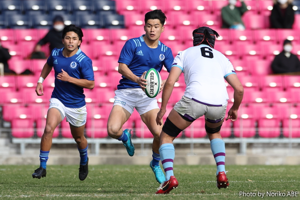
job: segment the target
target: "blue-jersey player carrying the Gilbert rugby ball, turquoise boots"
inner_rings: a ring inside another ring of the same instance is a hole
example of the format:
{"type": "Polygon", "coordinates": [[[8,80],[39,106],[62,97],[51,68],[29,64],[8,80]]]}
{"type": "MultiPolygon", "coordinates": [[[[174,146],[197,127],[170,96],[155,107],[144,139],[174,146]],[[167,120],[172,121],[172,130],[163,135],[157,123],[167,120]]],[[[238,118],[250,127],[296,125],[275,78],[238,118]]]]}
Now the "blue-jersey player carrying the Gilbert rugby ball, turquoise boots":
{"type": "MultiPolygon", "coordinates": [[[[123,142],[129,156],[134,155],[134,145],[131,142],[131,130],[122,130],[134,108],[139,112],[142,121],[154,136],[152,151],[153,160],[150,167],[156,181],[165,181],[164,173],[159,166],[159,135],[162,126],[155,122],[159,111],[157,100],[146,96],[142,88],[146,79],[145,73],[150,68],[161,71],[163,65],[170,71],[174,57],[170,48],[159,41],[164,31],[165,14],[161,10],[153,10],[145,14],[145,35],[126,41],[119,57],[119,73],[122,79],[115,91],[115,102],[107,123],[108,135],[123,142]]],[[[165,80],[162,83],[163,88],[165,80]]]]}

